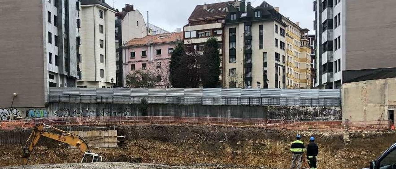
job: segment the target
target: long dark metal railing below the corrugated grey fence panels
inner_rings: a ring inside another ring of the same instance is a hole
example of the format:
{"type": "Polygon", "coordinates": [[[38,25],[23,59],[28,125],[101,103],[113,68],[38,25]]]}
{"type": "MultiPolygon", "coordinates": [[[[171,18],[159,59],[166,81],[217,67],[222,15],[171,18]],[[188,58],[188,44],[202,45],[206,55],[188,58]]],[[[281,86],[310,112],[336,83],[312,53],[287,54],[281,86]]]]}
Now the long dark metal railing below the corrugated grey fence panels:
{"type": "MultiPolygon", "coordinates": [[[[246,75],[246,74],[245,74],[246,75]]],[[[191,105],[280,105],[280,106],[332,106],[340,107],[340,98],[248,98],[248,97],[156,97],[156,96],[94,96],[49,95],[49,103],[123,103],[139,104],[191,104],[191,105]]]]}

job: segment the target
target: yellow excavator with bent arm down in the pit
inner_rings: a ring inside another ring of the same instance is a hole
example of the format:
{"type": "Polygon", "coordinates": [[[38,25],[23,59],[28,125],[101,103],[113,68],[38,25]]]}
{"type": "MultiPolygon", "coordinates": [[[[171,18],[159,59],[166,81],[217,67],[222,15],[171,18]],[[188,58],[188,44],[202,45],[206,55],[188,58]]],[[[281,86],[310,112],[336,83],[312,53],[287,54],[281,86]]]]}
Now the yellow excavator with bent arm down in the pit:
{"type": "Polygon", "coordinates": [[[36,126],[34,126],[32,133],[29,136],[29,139],[26,141],[25,146],[22,148],[23,155],[21,156],[21,158],[23,165],[27,165],[30,154],[34,150],[34,147],[37,145],[37,142],[41,136],[67,143],[80,149],[81,152],[83,152],[84,154],[81,159],[81,163],[102,162],[101,156],[89,152],[89,147],[87,143],[85,143],[85,141],[80,136],[54,128],[52,126],[48,126],[44,123],[38,123],[36,124],[36,126]],[[44,126],[59,131],[62,134],[46,132],[44,131],[44,126]]]}

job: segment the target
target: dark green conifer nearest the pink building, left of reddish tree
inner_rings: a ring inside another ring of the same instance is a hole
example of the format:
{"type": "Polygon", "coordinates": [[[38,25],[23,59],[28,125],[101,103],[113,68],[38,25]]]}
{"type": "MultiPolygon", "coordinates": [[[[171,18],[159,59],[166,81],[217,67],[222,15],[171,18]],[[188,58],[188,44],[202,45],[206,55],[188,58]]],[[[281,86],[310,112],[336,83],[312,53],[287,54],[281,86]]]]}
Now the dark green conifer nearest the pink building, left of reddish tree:
{"type": "Polygon", "coordinates": [[[182,60],[185,56],[186,52],[183,42],[177,43],[175,49],[173,49],[169,64],[169,79],[174,88],[185,88],[187,86],[184,80],[185,72],[181,71],[183,67],[182,60]]]}

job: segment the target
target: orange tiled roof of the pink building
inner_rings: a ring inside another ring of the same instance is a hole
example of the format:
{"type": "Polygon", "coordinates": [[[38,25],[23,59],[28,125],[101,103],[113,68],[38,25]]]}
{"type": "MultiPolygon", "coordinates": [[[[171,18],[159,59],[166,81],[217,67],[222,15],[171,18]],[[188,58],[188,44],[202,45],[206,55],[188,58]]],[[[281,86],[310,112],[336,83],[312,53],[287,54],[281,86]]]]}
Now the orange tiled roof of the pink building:
{"type": "Polygon", "coordinates": [[[155,36],[148,35],[143,38],[136,38],[128,41],[127,46],[141,46],[141,45],[147,45],[149,43],[170,43],[170,42],[181,41],[182,39],[183,39],[183,32],[157,34],[155,36]]]}

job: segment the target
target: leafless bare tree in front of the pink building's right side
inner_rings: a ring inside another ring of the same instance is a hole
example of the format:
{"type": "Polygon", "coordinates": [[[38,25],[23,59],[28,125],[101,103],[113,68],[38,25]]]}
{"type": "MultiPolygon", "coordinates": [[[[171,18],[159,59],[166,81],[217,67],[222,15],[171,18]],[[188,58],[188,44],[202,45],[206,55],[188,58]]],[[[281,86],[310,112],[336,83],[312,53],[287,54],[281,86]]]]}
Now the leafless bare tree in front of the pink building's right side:
{"type": "Polygon", "coordinates": [[[170,68],[168,59],[164,61],[158,60],[158,62],[150,64],[149,71],[156,76],[156,86],[160,88],[172,88],[172,83],[169,80],[170,68]]]}

